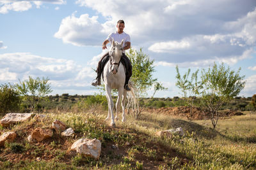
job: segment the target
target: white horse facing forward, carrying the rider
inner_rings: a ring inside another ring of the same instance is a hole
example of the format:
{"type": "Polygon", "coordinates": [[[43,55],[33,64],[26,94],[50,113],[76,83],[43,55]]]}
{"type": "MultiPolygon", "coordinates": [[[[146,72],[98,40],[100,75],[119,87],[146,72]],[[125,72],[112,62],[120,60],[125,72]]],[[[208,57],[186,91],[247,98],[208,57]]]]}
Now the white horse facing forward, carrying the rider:
{"type": "Polygon", "coordinates": [[[108,117],[106,118],[106,120],[108,120],[111,115],[111,126],[113,127],[115,127],[115,120],[113,115],[114,103],[111,97],[111,89],[118,90],[115,119],[118,120],[118,111],[120,108],[120,101],[122,98],[122,122],[125,122],[125,98],[127,96],[127,91],[124,89],[125,67],[123,66],[122,62],[120,62],[120,59],[122,57],[122,45],[123,41],[121,43],[118,43],[112,40],[111,48],[109,51],[109,61],[104,67],[102,75],[102,80],[104,80],[106,96],[108,99],[108,117]]]}

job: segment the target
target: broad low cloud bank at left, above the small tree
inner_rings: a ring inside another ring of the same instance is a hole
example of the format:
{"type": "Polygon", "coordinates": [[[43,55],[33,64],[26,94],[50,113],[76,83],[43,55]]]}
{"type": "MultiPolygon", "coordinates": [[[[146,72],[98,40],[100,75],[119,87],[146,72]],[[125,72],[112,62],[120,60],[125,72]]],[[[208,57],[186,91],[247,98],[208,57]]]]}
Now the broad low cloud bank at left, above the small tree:
{"type": "Polygon", "coordinates": [[[0,83],[17,83],[28,76],[49,77],[55,88],[87,89],[96,73],[90,66],[81,66],[73,60],[53,59],[31,53],[0,54],[0,83]],[[85,88],[85,87],[84,87],[85,88]]]}

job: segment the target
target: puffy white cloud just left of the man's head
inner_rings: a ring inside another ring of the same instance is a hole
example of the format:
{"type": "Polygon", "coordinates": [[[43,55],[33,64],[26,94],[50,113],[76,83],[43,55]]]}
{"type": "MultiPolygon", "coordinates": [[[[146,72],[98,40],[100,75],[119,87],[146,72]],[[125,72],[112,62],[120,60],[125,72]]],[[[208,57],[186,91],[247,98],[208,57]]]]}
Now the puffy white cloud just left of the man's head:
{"type": "Polygon", "coordinates": [[[59,31],[54,37],[62,39],[64,43],[71,43],[77,46],[101,45],[103,38],[107,35],[102,33],[102,24],[97,21],[96,16],[89,17],[88,14],[79,18],[73,13],[71,16],[63,18],[59,31]]]}

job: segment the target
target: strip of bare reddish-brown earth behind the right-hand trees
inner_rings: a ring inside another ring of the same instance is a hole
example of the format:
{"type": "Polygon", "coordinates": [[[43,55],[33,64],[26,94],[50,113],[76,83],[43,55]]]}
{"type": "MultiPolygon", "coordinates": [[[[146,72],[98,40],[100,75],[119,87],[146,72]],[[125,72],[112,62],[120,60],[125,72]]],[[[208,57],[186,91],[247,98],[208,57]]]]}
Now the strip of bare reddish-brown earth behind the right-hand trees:
{"type": "MultiPolygon", "coordinates": [[[[200,108],[193,108],[190,116],[190,108],[186,106],[173,107],[173,108],[145,108],[143,111],[150,113],[161,113],[164,115],[172,115],[175,117],[188,118],[188,120],[207,120],[211,118],[211,113],[206,113],[200,108]]],[[[225,110],[219,111],[220,117],[232,117],[235,115],[243,115],[240,111],[225,110]]]]}

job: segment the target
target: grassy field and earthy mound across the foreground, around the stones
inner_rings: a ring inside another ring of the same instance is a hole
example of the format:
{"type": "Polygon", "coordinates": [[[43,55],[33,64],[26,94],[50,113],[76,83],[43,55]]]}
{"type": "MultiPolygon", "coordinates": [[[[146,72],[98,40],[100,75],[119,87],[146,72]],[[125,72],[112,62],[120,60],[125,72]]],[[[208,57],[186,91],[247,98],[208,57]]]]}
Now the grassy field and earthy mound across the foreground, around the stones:
{"type": "Polygon", "coordinates": [[[0,126],[0,132],[15,131],[17,139],[0,148],[0,169],[256,169],[256,114],[221,118],[216,129],[210,120],[193,120],[144,111],[140,120],[127,115],[127,122],[109,127],[107,112],[96,106],[81,113],[55,111],[47,119],[0,126]],[[51,127],[54,120],[72,127],[76,135],[29,143],[36,127],[51,127]],[[159,138],[157,131],[182,127],[184,136],[159,138]],[[70,150],[80,138],[102,143],[99,160],[70,150]]]}

